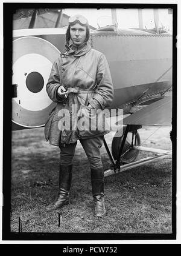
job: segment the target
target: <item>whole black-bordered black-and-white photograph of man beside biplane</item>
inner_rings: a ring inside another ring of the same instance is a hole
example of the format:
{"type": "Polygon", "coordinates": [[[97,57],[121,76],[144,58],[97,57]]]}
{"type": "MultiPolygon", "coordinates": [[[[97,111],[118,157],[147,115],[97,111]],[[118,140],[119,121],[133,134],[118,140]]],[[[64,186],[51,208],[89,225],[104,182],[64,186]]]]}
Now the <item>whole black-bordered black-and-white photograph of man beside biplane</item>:
{"type": "Polygon", "coordinates": [[[4,3],[2,239],[176,239],[176,33],[176,4],[4,3]]]}

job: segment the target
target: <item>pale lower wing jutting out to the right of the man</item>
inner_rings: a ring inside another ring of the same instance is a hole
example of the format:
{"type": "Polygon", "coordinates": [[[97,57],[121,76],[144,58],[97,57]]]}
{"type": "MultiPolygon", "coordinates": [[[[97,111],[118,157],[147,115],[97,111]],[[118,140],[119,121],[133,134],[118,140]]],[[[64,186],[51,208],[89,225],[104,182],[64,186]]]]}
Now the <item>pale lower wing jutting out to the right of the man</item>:
{"type": "Polygon", "coordinates": [[[165,98],[127,116],[123,124],[140,124],[144,126],[171,126],[172,98],[165,98]]]}

